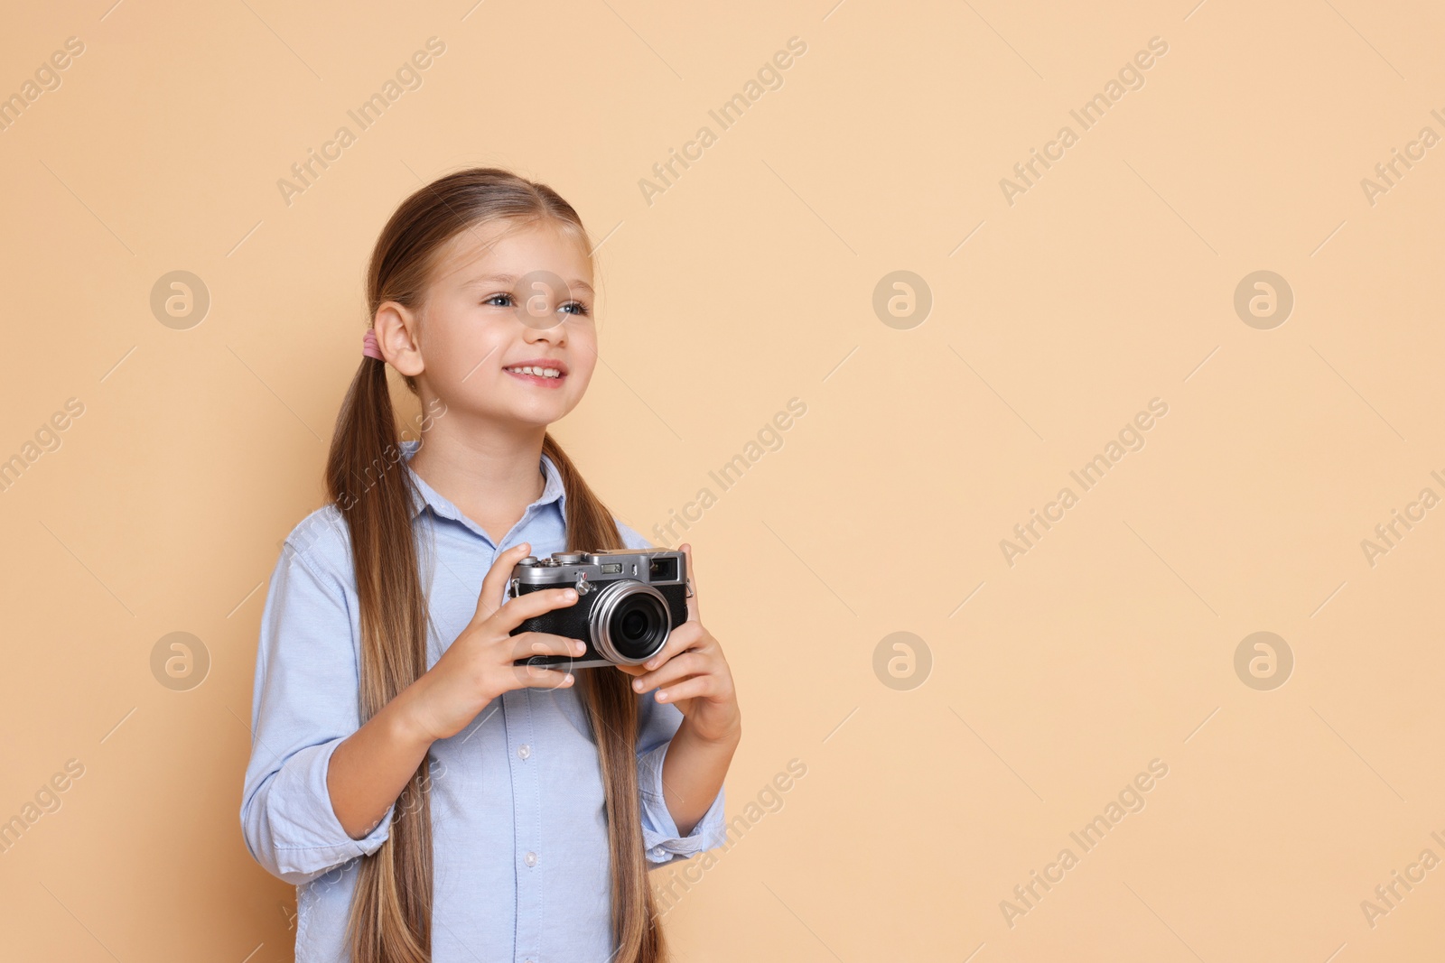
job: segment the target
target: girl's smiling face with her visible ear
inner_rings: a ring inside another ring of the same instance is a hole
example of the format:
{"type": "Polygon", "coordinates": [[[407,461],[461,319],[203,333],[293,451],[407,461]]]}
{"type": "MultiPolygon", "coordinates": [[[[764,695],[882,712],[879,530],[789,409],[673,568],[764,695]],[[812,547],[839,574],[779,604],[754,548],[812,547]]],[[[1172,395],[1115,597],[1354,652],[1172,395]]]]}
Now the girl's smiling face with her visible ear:
{"type": "Polygon", "coordinates": [[[423,407],[545,427],[577,407],[597,365],[591,280],[581,240],[555,221],[473,225],[438,251],[418,310],[377,309],[377,339],[423,407]]]}

